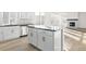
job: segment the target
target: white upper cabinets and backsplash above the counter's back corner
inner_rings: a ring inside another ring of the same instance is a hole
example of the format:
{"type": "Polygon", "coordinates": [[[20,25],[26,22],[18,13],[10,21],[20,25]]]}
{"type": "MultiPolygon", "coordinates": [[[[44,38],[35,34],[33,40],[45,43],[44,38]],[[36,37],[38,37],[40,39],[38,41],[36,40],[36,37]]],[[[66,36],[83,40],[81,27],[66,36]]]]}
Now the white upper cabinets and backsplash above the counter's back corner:
{"type": "Polygon", "coordinates": [[[34,24],[35,13],[34,12],[19,12],[17,13],[19,24],[34,24]]]}

